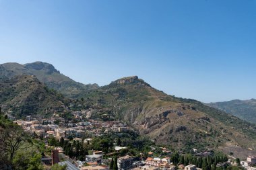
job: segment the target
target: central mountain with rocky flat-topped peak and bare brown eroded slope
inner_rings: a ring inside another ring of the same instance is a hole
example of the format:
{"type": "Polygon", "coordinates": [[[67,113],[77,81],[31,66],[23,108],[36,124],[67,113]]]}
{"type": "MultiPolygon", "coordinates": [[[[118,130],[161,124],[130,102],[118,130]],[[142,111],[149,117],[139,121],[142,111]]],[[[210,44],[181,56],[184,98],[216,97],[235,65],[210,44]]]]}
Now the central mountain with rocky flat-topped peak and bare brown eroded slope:
{"type": "Polygon", "coordinates": [[[256,126],[193,99],[166,95],[137,76],[84,94],[86,105],[114,113],[158,144],[191,148],[256,149],[256,126]]]}

